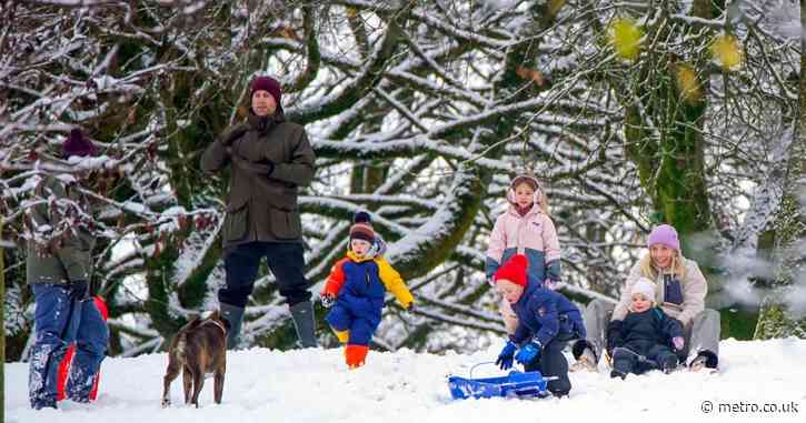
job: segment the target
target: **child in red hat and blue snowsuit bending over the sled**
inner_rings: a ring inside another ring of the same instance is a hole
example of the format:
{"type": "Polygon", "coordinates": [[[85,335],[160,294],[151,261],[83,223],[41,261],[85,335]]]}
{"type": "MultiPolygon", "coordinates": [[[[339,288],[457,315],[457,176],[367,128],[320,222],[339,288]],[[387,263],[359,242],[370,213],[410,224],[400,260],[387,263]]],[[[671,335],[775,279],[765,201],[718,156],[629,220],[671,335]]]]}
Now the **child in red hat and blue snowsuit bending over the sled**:
{"type": "Polygon", "coordinates": [[[496,289],[518,315],[518,326],[496,364],[507,370],[517,361],[527,372],[539,370],[544,376],[556,376],[548,382],[548,391],[567,395],[571,382],[563,350],[568,341],[585,338],[583,316],[563,294],[528,283],[527,268],[526,255],[516,254],[494,275],[496,289]]]}

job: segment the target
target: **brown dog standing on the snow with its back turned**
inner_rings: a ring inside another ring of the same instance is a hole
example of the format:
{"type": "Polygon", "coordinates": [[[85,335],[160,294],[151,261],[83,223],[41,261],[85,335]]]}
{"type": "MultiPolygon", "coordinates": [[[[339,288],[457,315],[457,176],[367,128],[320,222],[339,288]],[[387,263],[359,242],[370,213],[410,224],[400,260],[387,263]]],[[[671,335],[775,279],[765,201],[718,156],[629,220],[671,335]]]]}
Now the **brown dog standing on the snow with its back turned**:
{"type": "Polygon", "coordinates": [[[168,370],[162,391],[162,406],[171,405],[171,382],[182,371],[185,384],[185,403],[199,407],[199,392],[205,386],[205,376],[215,375],[215,400],[221,403],[223,393],[223,374],[227,372],[227,331],[229,322],[221,319],[218,311],[209,318],[196,316],[179,330],[170,350],[168,350],[168,370]],[[190,396],[190,390],[193,396],[190,396]]]}

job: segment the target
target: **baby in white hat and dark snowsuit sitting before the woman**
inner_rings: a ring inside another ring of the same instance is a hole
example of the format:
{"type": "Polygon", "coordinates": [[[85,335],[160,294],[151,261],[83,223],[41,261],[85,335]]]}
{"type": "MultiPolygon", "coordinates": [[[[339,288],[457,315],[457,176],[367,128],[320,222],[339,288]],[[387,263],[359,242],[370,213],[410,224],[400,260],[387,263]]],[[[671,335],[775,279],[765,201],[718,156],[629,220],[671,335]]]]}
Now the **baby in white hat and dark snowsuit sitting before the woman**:
{"type": "Polygon", "coordinates": [[[624,321],[614,320],[607,329],[607,351],[613,357],[611,377],[627,377],[659,369],[677,367],[684,346],[683,324],[655,306],[655,283],[641,278],[630,290],[631,303],[624,321]]]}

